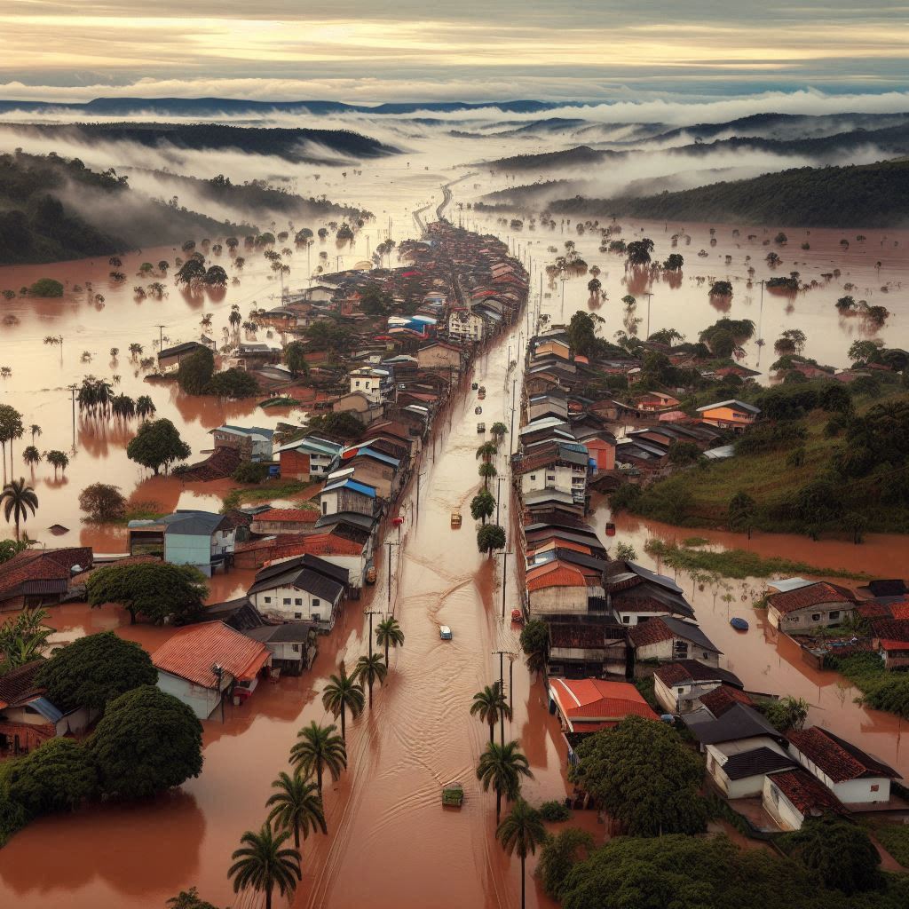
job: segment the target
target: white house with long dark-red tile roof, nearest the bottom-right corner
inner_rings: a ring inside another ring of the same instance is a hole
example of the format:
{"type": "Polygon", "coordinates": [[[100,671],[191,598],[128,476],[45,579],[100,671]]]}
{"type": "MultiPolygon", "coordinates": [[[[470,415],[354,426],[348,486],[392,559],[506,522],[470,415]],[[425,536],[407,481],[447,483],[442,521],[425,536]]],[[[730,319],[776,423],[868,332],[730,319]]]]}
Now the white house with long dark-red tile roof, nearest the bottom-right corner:
{"type": "Polygon", "coordinates": [[[890,782],[900,774],[829,729],[791,732],[789,743],[790,754],[843,804],[890,801],[890,782]]]}

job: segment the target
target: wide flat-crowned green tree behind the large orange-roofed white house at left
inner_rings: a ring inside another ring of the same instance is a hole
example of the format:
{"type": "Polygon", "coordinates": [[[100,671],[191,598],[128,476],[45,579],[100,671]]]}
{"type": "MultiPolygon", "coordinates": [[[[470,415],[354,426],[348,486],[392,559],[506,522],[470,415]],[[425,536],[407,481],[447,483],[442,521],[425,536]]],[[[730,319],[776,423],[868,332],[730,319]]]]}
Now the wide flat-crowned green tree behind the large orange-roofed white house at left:
{"type": "Polygon", "coordinates": [[[208,596],[202,572],[167,562],[105,565],[89,575],[86,586],[90,606],[120,604],[129,613],[130,624],[138,615],[157,624],[172,616],[194,618],[208,596]]]}

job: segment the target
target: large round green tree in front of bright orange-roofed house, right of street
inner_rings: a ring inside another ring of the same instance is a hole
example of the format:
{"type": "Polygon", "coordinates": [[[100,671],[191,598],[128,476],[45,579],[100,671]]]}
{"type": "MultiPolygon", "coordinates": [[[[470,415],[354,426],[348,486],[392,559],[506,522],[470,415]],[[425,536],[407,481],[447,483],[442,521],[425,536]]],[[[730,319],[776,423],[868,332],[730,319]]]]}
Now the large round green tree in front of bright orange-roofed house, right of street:
{"type": "Polygon", "coordinates": [[[704,762],[669,726],[628,716],[589,735],[569,778],[603,804],[632,836],[702,833],[704,762]]]}

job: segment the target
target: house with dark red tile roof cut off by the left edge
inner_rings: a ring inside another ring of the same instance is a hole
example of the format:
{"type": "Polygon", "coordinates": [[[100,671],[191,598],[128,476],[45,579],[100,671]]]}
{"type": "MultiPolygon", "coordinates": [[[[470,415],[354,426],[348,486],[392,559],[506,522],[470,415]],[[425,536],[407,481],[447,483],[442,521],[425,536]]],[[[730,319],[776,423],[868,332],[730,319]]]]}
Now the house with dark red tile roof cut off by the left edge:
{"type": "Polygon", "coordinates": [[[72,575],[91,567],[90,546],[16,553],[0,564],[0,612],[58,604],[72,575]]]}

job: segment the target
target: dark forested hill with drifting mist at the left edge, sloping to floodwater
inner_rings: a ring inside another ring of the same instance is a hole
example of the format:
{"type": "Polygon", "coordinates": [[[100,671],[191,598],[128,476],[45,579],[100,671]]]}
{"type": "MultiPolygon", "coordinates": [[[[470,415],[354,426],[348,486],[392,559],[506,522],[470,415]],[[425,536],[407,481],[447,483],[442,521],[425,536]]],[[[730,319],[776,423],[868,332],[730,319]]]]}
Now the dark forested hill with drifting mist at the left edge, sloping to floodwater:
{"type": "Polygon", "coordinates": [[[245,225],[154,202],[114,171],[57,155],[0,155],[0,265],[110,255],[245,225]],[[102,226],[103,225],[103,226],[102,226]]]}

